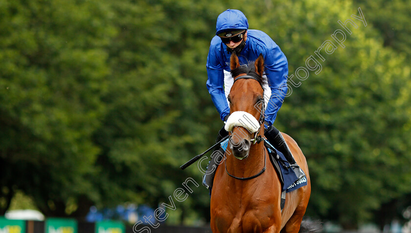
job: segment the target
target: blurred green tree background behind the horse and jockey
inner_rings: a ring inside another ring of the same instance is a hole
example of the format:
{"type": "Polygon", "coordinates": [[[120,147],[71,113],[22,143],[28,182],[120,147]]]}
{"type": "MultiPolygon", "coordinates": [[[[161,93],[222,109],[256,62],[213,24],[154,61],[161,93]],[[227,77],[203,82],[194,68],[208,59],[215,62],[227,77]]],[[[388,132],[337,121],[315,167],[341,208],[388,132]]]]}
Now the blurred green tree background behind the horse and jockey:
{"type": "Polygon", "coordinates": [[[410,0],[0,0],[0,215],[130,228],[192,178],[161,226],[207,227],[202,173],[179,166],[223,125],[206,57],[228,8],[274,39],[290,75],[338,20],[358,25],[274,124],[307,157],[306,216],[325,232],[410,232],[410,0]]]}

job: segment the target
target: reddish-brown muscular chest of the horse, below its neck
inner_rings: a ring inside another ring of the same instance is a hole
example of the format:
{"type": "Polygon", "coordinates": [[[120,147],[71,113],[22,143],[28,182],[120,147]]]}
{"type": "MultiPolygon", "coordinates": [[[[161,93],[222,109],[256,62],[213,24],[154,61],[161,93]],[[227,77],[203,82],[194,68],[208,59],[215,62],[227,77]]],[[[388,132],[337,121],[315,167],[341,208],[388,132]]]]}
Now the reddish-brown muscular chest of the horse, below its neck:
{"type": "Polygon", "coordinates": [[[211,196],[213,232],[262,233],[281,224],[281,187],[272,178],[275,174],[266,171],[258,180],[237,181],[218,172],[211,196]]]}

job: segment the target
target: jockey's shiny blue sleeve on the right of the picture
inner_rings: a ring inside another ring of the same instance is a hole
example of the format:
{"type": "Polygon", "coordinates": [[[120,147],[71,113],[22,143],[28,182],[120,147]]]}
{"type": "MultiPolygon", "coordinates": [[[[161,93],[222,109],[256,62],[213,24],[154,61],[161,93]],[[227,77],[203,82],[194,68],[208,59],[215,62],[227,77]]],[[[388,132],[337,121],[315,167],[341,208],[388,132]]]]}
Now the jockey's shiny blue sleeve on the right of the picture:
{"type": "Polygon", "coordinates": [[[266,51],[264,57],[264,63],[266,64],[265,72],[271,89],[271,97],[265,117],[266,121],[272,125],[287,94],[288,62],[284,53],[276,44],[273,48],[266,51]]]}

